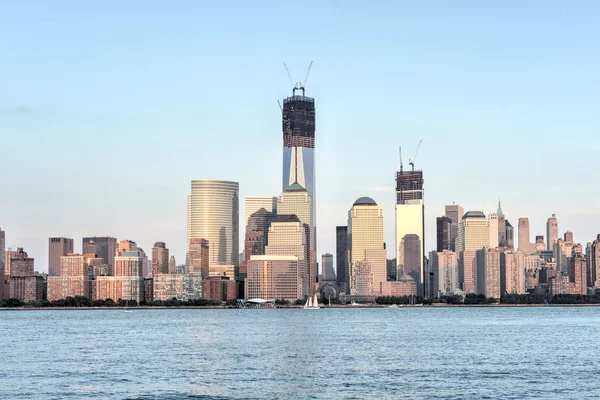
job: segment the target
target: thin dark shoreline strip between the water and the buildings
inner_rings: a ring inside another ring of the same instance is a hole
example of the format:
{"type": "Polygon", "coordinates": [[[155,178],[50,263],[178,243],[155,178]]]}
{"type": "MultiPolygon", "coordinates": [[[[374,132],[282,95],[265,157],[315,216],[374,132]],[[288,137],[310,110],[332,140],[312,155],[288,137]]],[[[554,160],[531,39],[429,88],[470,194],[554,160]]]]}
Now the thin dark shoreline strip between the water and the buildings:
{"type": "MultiPolygon", "coordinates": [[[[506,307],[600,307],[600,304],[443,304],[437,303],[433,305],[398,305],[397,308],[506,308],[506,307]]],[[[352,305],[341,305],[334,304],[331,307],[326,306],[324,309],[328,308],[336,308],[336,309],[384,309],[390,308],[390,305],[372,305],[365,304],[361,306],[352,306],[352,305]]],[[[166,306],[152,306],[152,307],[130,307],[130,310],[136,311],[146,311],[146,310],[239,310],[237,307],[227,307],[227,306],[190,306],[190,307],[166,307],[166,306]]],[[[253,308],[247,308],[253,309],[253,308]]],[[[264,308],[256,308],[257,310],[302,310],[302,306],[290,306],[290,307],[264,307],[264,308]]],[[[123,311],[123,307],[3,307],[0,308],[1,311],[89,311],[89,310],[99,310],[99,311],[123,311]]]]}

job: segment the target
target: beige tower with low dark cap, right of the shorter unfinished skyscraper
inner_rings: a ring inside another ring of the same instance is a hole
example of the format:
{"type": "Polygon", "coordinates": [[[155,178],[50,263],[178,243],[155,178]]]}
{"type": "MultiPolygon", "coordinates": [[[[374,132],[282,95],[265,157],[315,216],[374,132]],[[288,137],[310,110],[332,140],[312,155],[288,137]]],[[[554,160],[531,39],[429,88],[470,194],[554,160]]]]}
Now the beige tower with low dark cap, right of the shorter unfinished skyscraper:
{"type": "Polygon", "coordinates": [[[475,293],[475,252],[490,245],[489,224],[481,211],[468,211],[458,229],[458,275],[465,293],[475,293]]]}

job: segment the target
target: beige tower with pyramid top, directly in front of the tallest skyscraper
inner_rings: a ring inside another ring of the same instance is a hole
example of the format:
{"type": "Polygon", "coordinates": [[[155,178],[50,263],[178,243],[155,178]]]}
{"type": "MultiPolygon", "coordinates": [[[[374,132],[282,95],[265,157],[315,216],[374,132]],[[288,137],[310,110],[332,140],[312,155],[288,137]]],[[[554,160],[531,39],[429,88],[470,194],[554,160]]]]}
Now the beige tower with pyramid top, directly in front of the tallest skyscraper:
{"type": "Polygon", "coordinates": [[[295,215],[306,226],[306,237],[309,247],[308,291],[309,294],[314,294],[318,273],[313,199],[305,188],[298,183],[293,183],[281,193],[279,203],[277,204],[277,213],[281,215],[295,215]]]}

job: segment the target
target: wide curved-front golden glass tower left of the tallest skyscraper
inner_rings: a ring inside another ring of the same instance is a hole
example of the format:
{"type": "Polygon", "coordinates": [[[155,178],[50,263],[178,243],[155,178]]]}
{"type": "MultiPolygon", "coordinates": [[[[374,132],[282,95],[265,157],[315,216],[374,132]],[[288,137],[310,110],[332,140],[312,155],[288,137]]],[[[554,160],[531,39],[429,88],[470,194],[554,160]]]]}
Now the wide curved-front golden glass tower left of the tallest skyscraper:
{"type": "Polygon", "coordinates": [[[190,239],[210,244],[210,265],[239,265],[239,184],[192,181],[190,239]]]}

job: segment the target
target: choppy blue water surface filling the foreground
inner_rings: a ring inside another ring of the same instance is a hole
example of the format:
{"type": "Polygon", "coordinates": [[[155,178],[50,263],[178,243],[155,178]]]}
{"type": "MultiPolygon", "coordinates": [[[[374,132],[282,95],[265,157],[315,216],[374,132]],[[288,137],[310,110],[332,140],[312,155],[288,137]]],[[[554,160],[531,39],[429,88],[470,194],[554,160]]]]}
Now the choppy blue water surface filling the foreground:
{"type": "Polygon", "coordinates": [[[600,308],[0,312],[0,399],[600,398],[600,308]]]}

